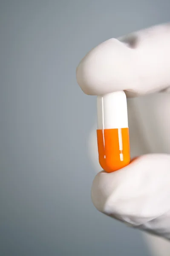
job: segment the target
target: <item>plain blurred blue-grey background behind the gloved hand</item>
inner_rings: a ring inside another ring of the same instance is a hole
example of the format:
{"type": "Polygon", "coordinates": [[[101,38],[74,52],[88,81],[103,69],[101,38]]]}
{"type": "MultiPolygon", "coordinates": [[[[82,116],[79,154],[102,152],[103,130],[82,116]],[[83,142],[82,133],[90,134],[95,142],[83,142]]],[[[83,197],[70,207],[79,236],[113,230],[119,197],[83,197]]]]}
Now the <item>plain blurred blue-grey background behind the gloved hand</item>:
{"type": "Polygon", "coordinates": [[[150,255],[139,231],[92,205],[96,102],[75,69],[169,10],[169,0],[0,1],[0,256],[150,255]]]}

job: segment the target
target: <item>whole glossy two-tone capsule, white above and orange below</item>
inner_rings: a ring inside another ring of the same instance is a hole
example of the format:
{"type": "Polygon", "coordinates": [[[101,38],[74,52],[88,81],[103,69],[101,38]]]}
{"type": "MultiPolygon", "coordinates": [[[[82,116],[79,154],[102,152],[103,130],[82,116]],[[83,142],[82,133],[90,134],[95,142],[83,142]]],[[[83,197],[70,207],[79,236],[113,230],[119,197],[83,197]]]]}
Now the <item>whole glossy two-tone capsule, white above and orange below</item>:
{"type": "Polygon", "coordinates": [[[98,96],[98,156],[106,172],[130,163],[127,99],[123,91],[98,96]]]}

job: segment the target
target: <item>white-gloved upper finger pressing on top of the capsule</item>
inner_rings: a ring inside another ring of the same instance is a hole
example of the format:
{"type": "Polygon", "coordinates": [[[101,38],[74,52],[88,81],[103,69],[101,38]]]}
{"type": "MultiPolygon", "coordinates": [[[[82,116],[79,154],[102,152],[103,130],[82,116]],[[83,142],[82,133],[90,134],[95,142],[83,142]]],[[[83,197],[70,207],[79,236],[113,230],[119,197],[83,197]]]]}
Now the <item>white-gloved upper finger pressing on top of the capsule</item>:
{"type": "Polygon", "coordinates": [[[165,24],[98,45],[81,60],[76,77],[88,95],[124,90],[138,96],[166,90],[169,70],[170,24],[165,24]]]}

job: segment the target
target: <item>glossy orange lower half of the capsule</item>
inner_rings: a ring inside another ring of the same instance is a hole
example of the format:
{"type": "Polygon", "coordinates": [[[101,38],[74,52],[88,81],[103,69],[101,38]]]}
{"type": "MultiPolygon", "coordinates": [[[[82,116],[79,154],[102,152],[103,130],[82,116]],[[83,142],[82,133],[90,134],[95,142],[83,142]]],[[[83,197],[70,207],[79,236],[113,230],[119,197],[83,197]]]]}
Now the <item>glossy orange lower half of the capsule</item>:
{"type": "Polygon", "coordinates": [[[129,128],[97,130],[98,156],[106,172],[114,172],[130,163],[129,128]]]}

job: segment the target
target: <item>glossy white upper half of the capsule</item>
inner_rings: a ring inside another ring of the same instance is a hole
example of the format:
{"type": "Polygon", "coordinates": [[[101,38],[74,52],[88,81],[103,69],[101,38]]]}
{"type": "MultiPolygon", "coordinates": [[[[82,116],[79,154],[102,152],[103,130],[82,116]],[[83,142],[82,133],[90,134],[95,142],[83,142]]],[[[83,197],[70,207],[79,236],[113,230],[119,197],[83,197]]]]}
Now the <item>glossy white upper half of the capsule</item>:
{"type": "Polygon", "coordinates": [[[98,129],[128,128],[124,91],[97,96],[98,129]]]}

